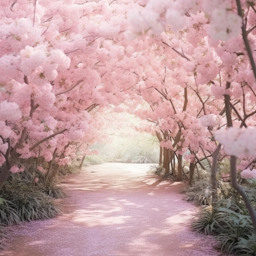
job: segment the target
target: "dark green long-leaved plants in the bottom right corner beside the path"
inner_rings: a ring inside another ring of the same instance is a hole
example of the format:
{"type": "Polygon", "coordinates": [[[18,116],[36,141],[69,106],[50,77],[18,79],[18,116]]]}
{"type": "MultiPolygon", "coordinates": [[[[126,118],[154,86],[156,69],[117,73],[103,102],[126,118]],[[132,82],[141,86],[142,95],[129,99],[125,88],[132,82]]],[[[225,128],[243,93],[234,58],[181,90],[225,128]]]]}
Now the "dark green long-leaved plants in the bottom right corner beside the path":
{"type": "MultiPolygon", "coordinates": [[[[256,187],[245,190],[255,206],[256,187]]],[[[256,255],[256,233],[245,204],[237,193],[230,198],[219,199],[214,209],[204,207],[192,228],[216,235],[221,243],[220,249],[227,254],[256,255]]]]}

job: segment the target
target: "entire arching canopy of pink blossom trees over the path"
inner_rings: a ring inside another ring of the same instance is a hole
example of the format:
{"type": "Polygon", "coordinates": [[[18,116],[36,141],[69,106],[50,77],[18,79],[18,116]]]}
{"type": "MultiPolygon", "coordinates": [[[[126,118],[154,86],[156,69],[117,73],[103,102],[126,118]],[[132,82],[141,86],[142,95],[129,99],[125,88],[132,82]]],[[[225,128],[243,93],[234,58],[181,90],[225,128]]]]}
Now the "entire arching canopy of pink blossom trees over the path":
{"type": "Polygon", "coordinates": [[[18,157],[40,151],[56,175],[89,153],[112,104],[150,121],[143,129],[157,132],[166,167],[177,155],[179,178],[182,157],[190,179],[211,159],[213,202],[217,162],[230,157],[256,229],[237,182],[255,167],[254,2],[0,2],[0,188],[18,157]]]}

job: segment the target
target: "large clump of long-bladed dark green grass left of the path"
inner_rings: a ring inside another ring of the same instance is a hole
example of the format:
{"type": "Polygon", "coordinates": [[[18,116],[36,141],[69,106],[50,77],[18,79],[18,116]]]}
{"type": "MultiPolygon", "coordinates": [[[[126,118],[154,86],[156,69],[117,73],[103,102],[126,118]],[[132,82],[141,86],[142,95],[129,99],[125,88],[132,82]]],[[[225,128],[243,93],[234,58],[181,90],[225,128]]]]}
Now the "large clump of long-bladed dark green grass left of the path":
{"type": "Polygon", "coordinates": [[[33,180],[34,175],[28,171],[9,174],[0,191],[2,223],[12,225],[20,221],[52,218],[61,213],[53,198],[44,193],[43,186],[33,186],[33,180]]]}

